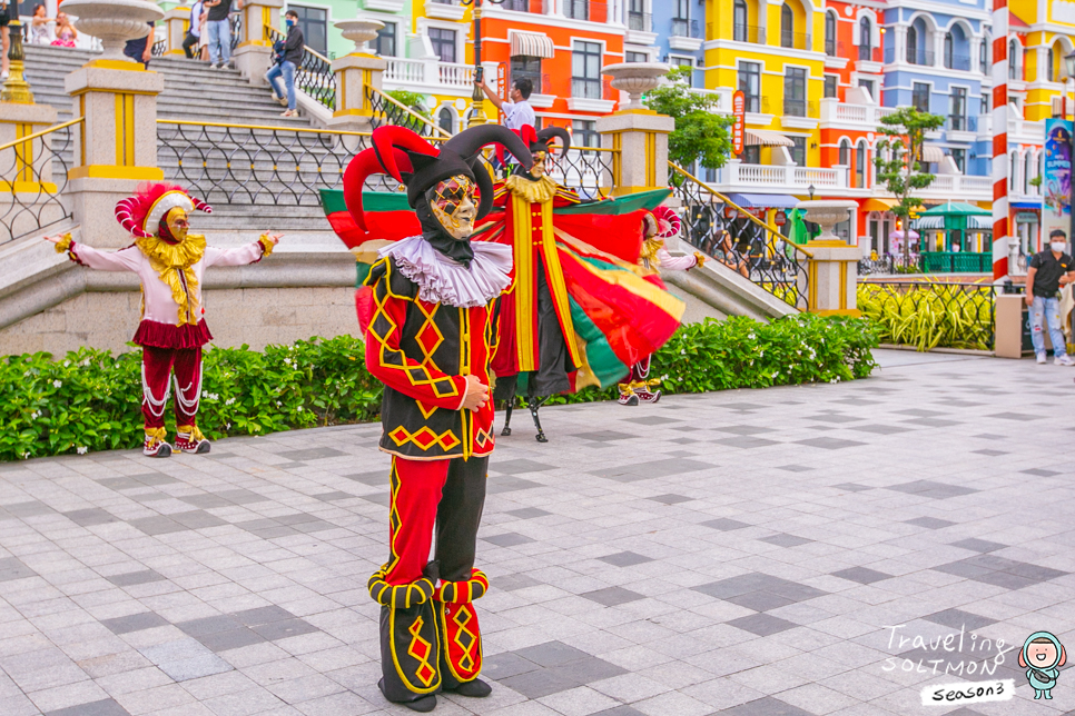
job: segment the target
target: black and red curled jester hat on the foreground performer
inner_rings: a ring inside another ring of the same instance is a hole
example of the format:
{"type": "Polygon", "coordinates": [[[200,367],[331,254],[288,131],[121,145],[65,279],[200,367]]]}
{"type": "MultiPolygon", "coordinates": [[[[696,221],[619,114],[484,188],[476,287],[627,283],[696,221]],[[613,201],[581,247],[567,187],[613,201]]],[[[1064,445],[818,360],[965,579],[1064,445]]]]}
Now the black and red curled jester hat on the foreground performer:
{"type": "Polygon", "coordinates": [[[533,157],[513,131],[501,125],[479,125],[452,137],[440,150],[405,127],[391,125],[373,130],[373,147],[355,155],[344,171],[344,202],[355,223],[366,230],[362,210],[362,189],[371,175],[389,175],[407,187],[407,203],[413,209],[426,190],[438,182],[463,175],[474,180],[481,197],[477,218],[493,208],[493,181],[481,162],[480,151],[501,145],[530,169],[533,157]]]}

